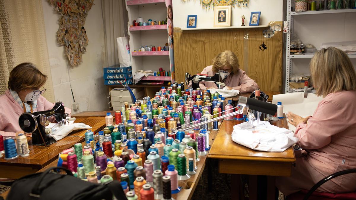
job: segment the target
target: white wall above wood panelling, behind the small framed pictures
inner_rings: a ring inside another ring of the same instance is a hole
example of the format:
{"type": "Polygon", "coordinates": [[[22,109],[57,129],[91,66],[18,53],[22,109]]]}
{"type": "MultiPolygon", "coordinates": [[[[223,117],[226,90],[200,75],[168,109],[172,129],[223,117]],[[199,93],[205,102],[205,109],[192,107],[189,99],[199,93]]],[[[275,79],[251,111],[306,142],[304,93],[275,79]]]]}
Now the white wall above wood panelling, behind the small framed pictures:
{"type": "MultiPolygon", "coordinates": [[[[200,0],[173,0],[173,25],[186,28],[187,16],[197,16],[197,28],[214,27],[214,9],[205,11],[200,0]]],[[[281,0],[250,0],[247,7],[232,7],[231,26],[241,26],[241,16],[245,15],[245,24],[250,23],[251,12],[261,11],[260,25],[267,25],[270,21],[282,21],[283,5],[281,0]]]]}

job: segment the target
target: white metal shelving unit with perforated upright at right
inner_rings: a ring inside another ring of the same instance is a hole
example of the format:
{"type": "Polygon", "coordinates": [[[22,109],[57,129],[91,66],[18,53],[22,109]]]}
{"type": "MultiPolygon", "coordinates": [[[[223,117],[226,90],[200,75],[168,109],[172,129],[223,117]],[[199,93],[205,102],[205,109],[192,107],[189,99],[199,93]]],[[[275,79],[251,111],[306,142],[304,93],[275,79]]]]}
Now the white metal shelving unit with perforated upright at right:
{"type": "MultiPolygon", "coordinates": [[[[293,69],[293,62],[292,59],[297,59],[297,58],[312,58],[313,53],[305,53],[304,55],[299,55],[299,54],[290,54],[290,38],[293,33],[293,23],[294,23],[294,16],[299,16],[299,15],[317,15],[317,14],[334,14],[334,13],[347,13],[347,12],[356,12],[356,9],[344,9],[344,10],[320,10],[320,11],[305,11],[305,12],[295,12],[292,11],[291,8],[294,6],[294,0],[287,0],[287,17],[286,20],[288,22],[288,32],[287,32],[287,37],[286,37],[286,87],[285,87],[285,93],[290,93],[293,92],[292,90],[289,89],[289,77],[290,74],[292,74],[292,69],[293,69]]],[[[349,54],[349,58],[356,58],[355,54],[349,54]]]]}

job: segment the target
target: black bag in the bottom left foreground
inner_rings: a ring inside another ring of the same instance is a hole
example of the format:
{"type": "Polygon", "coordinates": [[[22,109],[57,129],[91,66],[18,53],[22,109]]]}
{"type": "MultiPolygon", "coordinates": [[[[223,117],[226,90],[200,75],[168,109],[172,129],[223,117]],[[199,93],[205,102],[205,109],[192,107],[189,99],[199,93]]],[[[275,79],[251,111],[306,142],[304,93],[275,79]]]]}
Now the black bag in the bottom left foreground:
{"type": "Polygon", "coordinates": [[[75,178],[70,170],[62,167],[49,168],[45,172],[30,174],[16,180],[7,200],[127,200],[119,181],[108,184],[90,183],[75,178]],[[53,169],[62,169],[67,174],[49,173],[53,169]]]}

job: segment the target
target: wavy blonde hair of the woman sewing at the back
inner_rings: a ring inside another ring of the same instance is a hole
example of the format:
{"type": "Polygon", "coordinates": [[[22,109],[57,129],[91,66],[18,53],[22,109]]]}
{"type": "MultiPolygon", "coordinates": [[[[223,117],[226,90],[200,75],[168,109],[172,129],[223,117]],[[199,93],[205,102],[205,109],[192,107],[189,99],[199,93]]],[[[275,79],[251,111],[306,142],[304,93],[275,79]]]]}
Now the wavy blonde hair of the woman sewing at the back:
{"type": "Polygon", "coordinates": [[[231,67],[231,72],[237,74],[239,70],[239,58],[230,50],[225,50],[218,54],[213,60],[213,72],[218,72],[219,69],[227,66],[231,67]]]}

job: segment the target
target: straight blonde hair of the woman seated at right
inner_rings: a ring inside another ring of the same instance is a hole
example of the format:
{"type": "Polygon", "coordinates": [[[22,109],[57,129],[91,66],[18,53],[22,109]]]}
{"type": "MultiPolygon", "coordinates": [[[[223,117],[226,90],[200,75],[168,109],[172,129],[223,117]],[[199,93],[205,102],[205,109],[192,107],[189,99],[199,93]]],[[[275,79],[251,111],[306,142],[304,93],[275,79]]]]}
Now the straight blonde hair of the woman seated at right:
{"type": "Polygon", "coordinates": [[[342,90],[356,90],[356,72],[347,54],[335,47],[323,48],[310,61],[316,95],[325,97],[342,90]]]}

